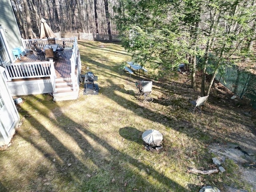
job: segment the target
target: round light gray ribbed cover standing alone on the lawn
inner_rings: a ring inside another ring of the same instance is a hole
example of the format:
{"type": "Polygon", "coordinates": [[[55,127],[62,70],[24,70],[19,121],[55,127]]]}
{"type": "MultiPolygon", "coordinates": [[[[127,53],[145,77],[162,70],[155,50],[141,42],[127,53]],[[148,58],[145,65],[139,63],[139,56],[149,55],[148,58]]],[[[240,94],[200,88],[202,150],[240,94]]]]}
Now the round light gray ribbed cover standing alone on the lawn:
{"type": "Polygon", "coordinates": [[[159,131],[150,129],[142,134],[142,139],[150,146],[160,146],[162,144],[163,136],[159,131]]]}

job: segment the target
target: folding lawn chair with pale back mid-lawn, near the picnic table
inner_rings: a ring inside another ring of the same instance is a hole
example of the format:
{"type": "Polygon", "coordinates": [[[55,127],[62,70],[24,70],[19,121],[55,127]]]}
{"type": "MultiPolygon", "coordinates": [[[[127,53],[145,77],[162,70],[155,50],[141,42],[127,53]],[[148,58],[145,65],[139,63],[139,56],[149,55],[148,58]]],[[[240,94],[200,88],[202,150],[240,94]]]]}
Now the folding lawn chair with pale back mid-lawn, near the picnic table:
{"type": "Polygon", "coordinates": [[[141,83],[136,83],[136,87],[139,89],[138,98],[140,96],[144,96],[143,102],[152,102],[154,100],[154,98],[150,97],[150,94],[152,92],[152,84],[152,81],[142,81],[141,83]]]}

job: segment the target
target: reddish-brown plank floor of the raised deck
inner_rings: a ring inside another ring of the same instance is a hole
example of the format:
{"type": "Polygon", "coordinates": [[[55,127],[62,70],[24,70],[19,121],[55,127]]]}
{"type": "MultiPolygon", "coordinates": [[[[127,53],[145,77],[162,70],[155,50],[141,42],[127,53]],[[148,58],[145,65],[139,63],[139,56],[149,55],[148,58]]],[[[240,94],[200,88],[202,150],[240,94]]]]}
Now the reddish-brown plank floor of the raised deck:
{"type": "MultiPolygon", "coordinates": [[[[64,54],[54,60],[54,68],[57,78],[68,78],[70,77],[71,72],[71,62],[70,58],[72,55],[72,50],[64,50],[64,54]]],[[[24,57],[21,57],[21,60],[16,60],[15,63],[28,63],[28,62],[40,62],[32,52],[27,52],[24,57]]]]}

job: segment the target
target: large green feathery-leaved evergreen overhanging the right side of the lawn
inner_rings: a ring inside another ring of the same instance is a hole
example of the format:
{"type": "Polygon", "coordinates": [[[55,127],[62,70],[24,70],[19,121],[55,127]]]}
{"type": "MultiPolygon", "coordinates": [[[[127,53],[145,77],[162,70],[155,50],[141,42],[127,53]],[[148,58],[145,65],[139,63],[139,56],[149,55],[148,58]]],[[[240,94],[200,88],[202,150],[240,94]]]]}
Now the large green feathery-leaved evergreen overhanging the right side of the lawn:
{"type": "Polygon", "coordinates": [[[123,10],[117,9],[116,19],[124,46],[133,53],[134,60],[148,63],[152,68],[157,66],[161,72],[176,69],[180,62],[190,62],[193,87],[195,71],[203,69],[201,92],[204,95],[206,68],[212,66],[212,80],[206,92],[209,94],[220,69],[239,56],[249,56],[241,46],[248,39],[248,29],[253,28],[248,21],[255,21],[255,16],[248,17],[255,15],[245,6],[248,2],[126,0],[123,10]],[[127,37],[128,32],[132,32],[131,39],[127,37]],[[208,62],[210,54],[212,65],[208,62]],[[190,60],[186,60],[187,55],[190,60]],[[200,66],[196,62],[198,56],[204,56],[204,64],[200,66]]]}

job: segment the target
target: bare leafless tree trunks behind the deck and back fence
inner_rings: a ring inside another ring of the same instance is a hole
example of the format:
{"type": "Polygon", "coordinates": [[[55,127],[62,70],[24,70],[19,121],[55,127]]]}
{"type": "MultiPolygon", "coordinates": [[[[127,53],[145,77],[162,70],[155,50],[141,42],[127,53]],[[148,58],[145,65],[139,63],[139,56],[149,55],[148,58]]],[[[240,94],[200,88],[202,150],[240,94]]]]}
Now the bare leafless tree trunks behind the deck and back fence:
{"type": "Polygon", "coordinates": [[[118,0],[11,0],[22,38],[39,36],[44,18],[54,32],[117,34],[118,0]]]}

